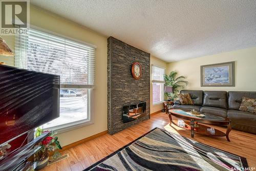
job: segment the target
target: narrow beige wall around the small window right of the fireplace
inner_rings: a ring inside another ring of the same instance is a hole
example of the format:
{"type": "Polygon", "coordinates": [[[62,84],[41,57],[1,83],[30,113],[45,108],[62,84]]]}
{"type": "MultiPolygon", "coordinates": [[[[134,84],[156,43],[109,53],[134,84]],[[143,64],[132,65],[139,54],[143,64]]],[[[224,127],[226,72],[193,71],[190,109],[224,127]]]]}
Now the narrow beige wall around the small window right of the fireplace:
{"type": "MultiPolygon", "coordinates": [[[[167,62],[151,55],[150,57],[150,63],[151,65],[155,65],[155,66],[158,66],[158,67],[162,67],[162,68],[165,68],[165,72],[166,72],[166,68],[167,68],[167,62]]],[[[151,71],[151,74],[152,75],[152,71],[151,71]]],[[[152,77],[150,78],[152,79],[152,77]]],[[[150,113],[154,113],[154,112],[157,112],[157,111],[160,111],[163,109],[163,104],[160,103],[160,104],[153,104],[153,98],[152,98],[152,82],[150,83],[150,113]]]]}

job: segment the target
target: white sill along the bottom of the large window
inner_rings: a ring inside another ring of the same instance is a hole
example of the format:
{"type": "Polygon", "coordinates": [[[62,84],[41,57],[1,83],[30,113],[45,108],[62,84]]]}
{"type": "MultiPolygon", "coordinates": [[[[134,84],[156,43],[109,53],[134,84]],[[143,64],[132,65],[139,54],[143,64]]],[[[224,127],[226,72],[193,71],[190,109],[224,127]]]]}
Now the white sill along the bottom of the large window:
{"type": "Polygon", "coordinates": [[[65,133],[65,132],[68,132],[68,131],[76,130],[76,129],[78,129],[80,127],[83,127],[83,126],[91,125],[93,123],[94,122],[92,120],[86,119],[86,120],[80,120],[80,121],[67,123],[67,124],[63,124],[63,125],[57,125],[57,126],[49,127],[47,129],[49,129],[51,131],[54,131],[57,134],[61,134],[61,133],[65,133]]]}

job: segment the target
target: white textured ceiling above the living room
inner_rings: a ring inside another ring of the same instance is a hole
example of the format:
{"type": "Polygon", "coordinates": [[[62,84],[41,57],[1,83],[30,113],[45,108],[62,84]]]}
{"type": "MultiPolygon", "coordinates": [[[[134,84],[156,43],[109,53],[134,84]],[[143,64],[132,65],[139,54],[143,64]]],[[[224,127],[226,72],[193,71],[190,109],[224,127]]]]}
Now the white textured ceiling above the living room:
{"type": "Polygon", "coordinates": [[[256,46],[256,1],[30,0],[165,61],[256,46]]]}

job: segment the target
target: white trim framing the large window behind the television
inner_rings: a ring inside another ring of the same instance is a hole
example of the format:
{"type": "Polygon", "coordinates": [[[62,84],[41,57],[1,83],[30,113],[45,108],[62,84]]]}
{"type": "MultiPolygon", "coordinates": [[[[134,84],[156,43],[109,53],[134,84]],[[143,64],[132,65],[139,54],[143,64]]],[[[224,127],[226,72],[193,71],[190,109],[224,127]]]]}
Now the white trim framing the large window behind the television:
{"type": "MultiPolygon", "coordinates": [[[[62,35],[62,34],[59,34],[59,33],[56,33],[56,32],[52,32],[50,30],[42,29],[42,28],[34,26],[34,25],[30,25],[30,28],[38,30],[38,31],[42,31],[42,32],[45,32],[45,33],[48,33],[48,34],[52,34],[52,35],[55,35],[55,36],[59,36],[59,37],[62,37],[62,38],[66,38],[66,39],[69,39],[69,40],[72,40],[72,41],[76,41],[76,42],[79,42],[81,44],[91,46],[95,49],[97,48],[97,46],[89,44],[88,42],[84,42],[84,41],[81,41],[81,40],[78,40],[78,39],[75,39],[75,38],[72,38],[72,37],[68,37],[68,36],[65,36],[65,35],[62,35]]],[[[15,64],[15,67],[20,67],[20,63],[15,64]]],[[[65,87],[66,86],[63,86],[63,84],[62,85],[60,84],[60,89],[65,88],[65,87]]],[[[81,88],[79,85],[76,85],[76,88],[77,87],[81,88]]],[[[60,134],[60,133],[76,130],[80,127],[84,127],[84,126],[94,124],[94,105],[93,105],[94,86],[90,85],[90,86],[87,86],[86,88],[83,88],[83,89],[89,90],[88,91],[89,94],[87,94],[88,97],[90,97],[87,100],[87,104],[88,104],[88,106],[87,106],[87,116],[88,116],[88,118],[83,119],[83,120],[79,120],[79,121],[75,121],[75,122],[70,122],[70,123],[66,123],[66,124],[57,125],[57,126],[47,127],[47,128],[45,128],[45,130],[55,131],[58,134],[60,134]]]]}

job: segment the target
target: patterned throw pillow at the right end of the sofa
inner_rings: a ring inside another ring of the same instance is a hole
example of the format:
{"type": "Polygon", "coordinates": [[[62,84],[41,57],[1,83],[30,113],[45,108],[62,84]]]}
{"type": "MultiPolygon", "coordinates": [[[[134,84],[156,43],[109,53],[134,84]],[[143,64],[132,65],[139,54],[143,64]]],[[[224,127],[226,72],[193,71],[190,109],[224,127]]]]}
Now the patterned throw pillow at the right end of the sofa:
{"type": "Polygon", "coordinates": [[[239,110],[256,114],[256,99],[243,97],[239,110]]]}

